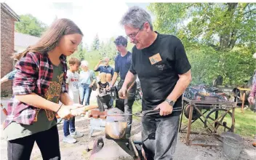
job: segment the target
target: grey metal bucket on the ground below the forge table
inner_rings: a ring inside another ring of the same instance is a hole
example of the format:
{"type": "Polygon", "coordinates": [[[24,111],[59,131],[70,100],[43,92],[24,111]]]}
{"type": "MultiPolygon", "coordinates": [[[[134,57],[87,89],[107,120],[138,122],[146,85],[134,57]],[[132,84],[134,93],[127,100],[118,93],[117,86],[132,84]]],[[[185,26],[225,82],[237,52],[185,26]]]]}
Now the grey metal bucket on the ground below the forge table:
{"type": "Polygon", "coordinates": [[[228,159],[239,159],[243,138],[232,132],[223,132],[223,154],[228,159]]]}

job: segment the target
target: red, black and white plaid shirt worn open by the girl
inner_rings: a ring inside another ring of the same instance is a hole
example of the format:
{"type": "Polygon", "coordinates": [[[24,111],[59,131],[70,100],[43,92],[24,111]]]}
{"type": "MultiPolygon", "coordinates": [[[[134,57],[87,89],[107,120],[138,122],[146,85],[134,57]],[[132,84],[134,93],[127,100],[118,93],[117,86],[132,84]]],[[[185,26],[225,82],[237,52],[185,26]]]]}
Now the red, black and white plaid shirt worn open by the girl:
{"type": "MultiPolygon", "coordinates": [[[[63,64],[64,72],[61,92],[67,92],[65,79],[68,67],[64,55],[60,56],[60,63],[63,64]]],[[[20,102],[15,98],[15,95],[28,95],[33,92],[44,97],[50,81],[52,81],[53,68],[47,54],[28,52],[25,57],[18,61],[15,68],[17,73],[12,86],[13,97],[7,105],[7,118],[3,124],[4,128],[12,121],[19,124],[32,124],[36,116],[36,108],[20,102]]]]}

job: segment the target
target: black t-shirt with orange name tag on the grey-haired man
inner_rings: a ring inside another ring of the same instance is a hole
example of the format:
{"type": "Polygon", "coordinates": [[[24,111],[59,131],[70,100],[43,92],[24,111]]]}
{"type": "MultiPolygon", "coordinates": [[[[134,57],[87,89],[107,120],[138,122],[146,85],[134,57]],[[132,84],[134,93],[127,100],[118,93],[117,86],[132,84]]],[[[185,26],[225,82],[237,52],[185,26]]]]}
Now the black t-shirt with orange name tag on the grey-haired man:
{"type": "MultiPolygon", "coordinates": [[[[156,32],[157,33],[157,32],[156,32]]],[[[179,74],[188,72],[191,65],[180,39],[158,33],[156,40],[145,49],[132,49],[130,72],[140,79],[143,91],[143,111],[156,108],[172,92],[179,74]],[[153,56],[153,58],[152,58],[153,56]],[[151,59],[151,60],[150,60],[151,59]]],[[[181,96],[174,108],[181,107],[181,96]]],[[[179,115],[174,112],[171,115],[179,115]]]]}

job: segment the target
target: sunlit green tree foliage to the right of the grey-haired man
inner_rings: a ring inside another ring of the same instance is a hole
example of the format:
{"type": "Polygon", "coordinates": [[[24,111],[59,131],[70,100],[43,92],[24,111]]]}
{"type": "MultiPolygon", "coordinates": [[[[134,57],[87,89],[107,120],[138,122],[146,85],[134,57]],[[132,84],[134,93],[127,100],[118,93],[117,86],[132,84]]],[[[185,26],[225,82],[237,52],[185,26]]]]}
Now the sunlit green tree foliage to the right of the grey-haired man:
{"type": "Polygon", "coordinates": [[[191,63],[193,84],[241,85],[256,68],[255,4],[153,3],[154,30],[183,41],[191,63]]]}

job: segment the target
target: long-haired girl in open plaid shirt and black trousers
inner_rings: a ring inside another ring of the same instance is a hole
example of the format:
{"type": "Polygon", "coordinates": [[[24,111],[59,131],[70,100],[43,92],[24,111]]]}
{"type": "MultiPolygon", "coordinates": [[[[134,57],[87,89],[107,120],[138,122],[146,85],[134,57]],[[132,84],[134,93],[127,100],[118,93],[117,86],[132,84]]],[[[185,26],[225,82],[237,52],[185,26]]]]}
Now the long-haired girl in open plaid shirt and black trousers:
{"type": "Polygon", "coordinates": [[[60,159],[55,113],[70,119],[76,116],[72,109],[82,107],[73,103],[65,85],[66,56],[75,52],[82,36],[71,20],[59,19],[37,44],[16,56],[14,96],[4,121],[9,160],[30,159],[35,141],[43,159],[60,159]]]}

